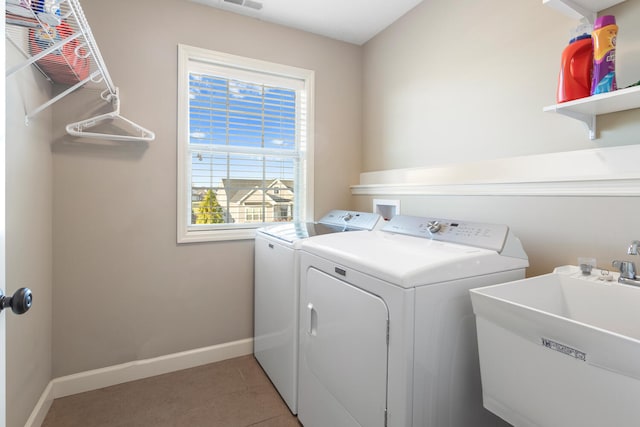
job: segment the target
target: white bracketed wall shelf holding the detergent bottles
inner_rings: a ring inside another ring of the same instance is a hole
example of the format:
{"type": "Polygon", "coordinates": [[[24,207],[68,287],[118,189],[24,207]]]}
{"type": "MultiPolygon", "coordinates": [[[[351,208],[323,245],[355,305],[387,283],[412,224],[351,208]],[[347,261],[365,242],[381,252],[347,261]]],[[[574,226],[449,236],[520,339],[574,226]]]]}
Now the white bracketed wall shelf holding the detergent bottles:
{"type": "Polygon", "coordinates": [[[596,116],[635,108],[640,108],[640,86],[550,105],[544,107],[543,111],[559,113],[584,122],[589,129],[589,139],[595,139],[596,116]]]}

